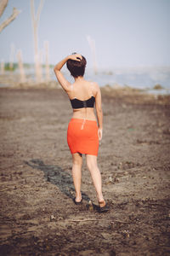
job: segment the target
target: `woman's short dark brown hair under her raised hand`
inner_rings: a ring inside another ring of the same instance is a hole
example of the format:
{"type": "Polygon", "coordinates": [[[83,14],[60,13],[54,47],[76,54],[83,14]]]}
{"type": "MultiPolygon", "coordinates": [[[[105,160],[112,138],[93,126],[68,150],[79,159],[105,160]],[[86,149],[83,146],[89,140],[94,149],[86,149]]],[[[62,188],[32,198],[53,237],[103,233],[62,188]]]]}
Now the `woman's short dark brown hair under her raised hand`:
{"type": "Polygon", "coordinates": [[[66,67],[70,71],[71,76],[73,76],[74,78],[83,77],[86,63],[87,61],[85,57],[82,56],[81,61],[73,61],[73,60],[66,61],[66,67]]]}

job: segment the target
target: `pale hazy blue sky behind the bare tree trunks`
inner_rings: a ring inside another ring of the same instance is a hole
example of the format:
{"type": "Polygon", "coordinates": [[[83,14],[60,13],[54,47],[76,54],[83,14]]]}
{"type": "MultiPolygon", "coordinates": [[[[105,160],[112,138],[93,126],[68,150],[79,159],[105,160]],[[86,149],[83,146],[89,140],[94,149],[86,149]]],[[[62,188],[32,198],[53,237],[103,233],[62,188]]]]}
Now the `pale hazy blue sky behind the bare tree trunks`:
{"type": "MultiPolygon", "coordinates": [[[[66,55],[84,55],[93,66],[87,36],[95,40],[98,68],[170,66],[170,0],[44,0],[38,45],[49,62],[66,55]]],[[[35,0],[37,10],[40,0],[35,0]]],[[[13,8],[20,15],[0,34],[0,61],[22,50],[24,62],[34,61],[30,0],[9,0],[0,23],[13,8]]],[[[44,60],[44,58],[43,58],[44,60]]],[[[16,56],[14,57],[16,61],[16,56]]]]}

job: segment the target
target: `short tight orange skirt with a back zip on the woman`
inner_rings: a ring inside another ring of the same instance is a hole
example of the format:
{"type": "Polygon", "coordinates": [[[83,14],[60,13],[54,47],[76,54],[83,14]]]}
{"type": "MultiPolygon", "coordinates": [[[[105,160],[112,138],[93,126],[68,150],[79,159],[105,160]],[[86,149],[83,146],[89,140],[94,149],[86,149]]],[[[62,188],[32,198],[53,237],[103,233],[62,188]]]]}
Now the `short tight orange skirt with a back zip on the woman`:
{"type": "Polygon", "coordinates": [[[94,120],[71,119],[67,130],[67,143],[71,154],[98,155],[98,125],[94,120]]]}

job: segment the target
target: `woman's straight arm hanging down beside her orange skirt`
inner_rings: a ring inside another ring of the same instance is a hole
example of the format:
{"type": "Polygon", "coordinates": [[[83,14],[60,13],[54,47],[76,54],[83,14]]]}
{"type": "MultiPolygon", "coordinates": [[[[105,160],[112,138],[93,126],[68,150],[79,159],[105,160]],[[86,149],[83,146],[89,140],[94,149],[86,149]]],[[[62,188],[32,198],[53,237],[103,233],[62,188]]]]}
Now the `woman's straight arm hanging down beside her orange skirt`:
{"type": "Polygon", "coordinates": [[[101,106],[101,92],[98,84],[96,84],[96,89],[97,89],[97,93],[95,96],[95,107],[96,107],[96,113],[97,113],[98,124],[99,124],[98,136],[100,141],[102,139],[102,131],[103,131],[103,111],[101,106]]]}

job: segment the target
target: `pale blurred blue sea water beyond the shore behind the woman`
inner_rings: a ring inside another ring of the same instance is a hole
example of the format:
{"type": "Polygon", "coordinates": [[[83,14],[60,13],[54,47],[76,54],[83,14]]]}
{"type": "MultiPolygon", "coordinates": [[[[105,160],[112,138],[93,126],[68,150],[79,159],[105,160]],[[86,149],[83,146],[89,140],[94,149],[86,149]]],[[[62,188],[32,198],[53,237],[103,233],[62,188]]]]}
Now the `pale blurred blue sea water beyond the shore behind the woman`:
{"type": "MultiPolygon", "coordinates": [[[[74,81],[67,72],[65,76],[70,81],[74,81]]],[[[55,79],[54,74],[53,79],[55,79]]],[[[95,81],[99,86],[109,84],[114,87],[118,84],[156,94],[170,94],[170,67],[116,67],[111,71],[99,70],[97,74],[94,74],[92,70],[87,70],[85,79],[95,81]],[[162,89],[154,90],[156,84],[160,84],[162,89]]]]}

